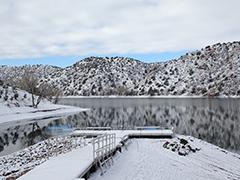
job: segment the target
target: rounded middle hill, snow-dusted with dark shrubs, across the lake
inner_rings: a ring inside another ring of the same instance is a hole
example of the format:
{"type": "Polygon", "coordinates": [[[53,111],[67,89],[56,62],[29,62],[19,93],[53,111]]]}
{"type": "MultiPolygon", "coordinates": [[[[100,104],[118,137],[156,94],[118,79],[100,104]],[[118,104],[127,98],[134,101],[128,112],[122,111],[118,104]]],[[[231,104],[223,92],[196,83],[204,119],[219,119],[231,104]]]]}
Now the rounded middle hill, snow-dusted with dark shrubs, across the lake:
{"type": "Polygon", "coordinates": [[[151,67],[129,58],[89,57],[42,80],[59,85],[65,95],[130,95],[151,67]]]}

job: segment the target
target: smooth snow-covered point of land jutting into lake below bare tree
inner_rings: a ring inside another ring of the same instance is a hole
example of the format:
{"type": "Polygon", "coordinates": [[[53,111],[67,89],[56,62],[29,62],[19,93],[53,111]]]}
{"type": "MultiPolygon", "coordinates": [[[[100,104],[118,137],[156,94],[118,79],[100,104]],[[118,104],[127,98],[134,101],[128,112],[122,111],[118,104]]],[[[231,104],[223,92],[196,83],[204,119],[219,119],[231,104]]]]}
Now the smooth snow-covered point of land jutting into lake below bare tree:
{"type": "Polygon", "coordinates": [[[56,105],[46,99],[43,99],[37,108],[33,108],[31,107],[31,97],[31,94],[26,91],[1,85],[0,124],[10,121],[26,121],[62,116],[86,110],[80,107],[56,105]]]}

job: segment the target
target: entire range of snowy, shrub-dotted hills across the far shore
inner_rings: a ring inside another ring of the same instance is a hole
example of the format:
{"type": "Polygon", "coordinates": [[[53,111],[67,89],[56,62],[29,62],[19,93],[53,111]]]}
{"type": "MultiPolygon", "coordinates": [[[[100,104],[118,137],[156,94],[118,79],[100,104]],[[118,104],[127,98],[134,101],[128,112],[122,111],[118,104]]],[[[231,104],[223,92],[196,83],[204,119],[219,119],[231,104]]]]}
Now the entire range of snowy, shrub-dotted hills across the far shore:
{"type": "Polygon", "coordinates": [[[67,68],[2,66],[0,79],[16,79],[26,68],[64,95],[240,95],[240,42],[218,43],[163,63],[89,57],[67,68]]]}

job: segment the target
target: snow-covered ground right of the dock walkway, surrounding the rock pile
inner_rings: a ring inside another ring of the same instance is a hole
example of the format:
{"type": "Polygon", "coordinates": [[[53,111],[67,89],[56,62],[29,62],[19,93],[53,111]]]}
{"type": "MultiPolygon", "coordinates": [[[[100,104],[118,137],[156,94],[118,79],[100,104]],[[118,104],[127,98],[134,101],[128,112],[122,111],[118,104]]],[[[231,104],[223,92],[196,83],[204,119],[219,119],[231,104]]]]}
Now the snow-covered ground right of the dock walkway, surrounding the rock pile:
{"type": "MultiPolygon", "coordinates": [[[[185,137],[185,136],[182,136],[185,137]]],[[[180,156],[163,147],[166,140],[135,139],[128,150],[114,158],[114,165],[91,180],[229,180],[240,179],[240,156],[199,139],[193,140],[200,151],[180,156]]]]}

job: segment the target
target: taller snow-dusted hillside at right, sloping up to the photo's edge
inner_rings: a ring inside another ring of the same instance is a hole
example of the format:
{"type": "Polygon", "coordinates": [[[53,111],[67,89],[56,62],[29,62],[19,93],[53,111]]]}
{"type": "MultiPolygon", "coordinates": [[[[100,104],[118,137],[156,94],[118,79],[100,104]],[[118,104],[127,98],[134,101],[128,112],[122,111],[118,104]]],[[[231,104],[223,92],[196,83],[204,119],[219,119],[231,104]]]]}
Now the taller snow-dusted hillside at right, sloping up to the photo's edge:
{"type": "Polygon", "coordinates": [[[141,82],[139,94],[240,95],[240,42],[207,46],[163,63],[141,82]]]}

